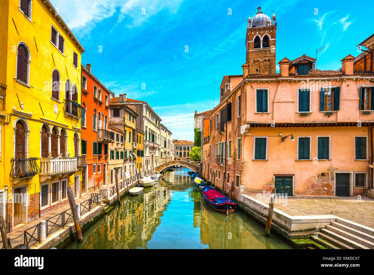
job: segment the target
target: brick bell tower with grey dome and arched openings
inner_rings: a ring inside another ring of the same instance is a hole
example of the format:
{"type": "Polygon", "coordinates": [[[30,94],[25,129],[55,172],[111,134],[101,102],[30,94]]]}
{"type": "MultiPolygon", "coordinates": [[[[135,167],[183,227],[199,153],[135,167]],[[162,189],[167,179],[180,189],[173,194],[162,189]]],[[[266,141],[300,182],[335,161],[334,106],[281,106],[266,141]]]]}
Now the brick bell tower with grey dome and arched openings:
{"type": "Polygon", "coordinates": [[[275,74],[275,41],[277,23],[273,11],[272,19],[261,12],[261,7],[251,19],[248,18],[246,34],[246,63],[248,74],[275,74]]]}

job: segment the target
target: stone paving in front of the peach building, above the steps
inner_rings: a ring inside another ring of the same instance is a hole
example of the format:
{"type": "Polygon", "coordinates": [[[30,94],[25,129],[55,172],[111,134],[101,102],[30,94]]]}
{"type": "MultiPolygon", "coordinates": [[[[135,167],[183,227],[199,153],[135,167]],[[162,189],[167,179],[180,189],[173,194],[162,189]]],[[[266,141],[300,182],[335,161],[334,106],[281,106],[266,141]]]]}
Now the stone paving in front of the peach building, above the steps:
{"type": "MultiPolygon", "coordinates": [[[[262,195],[248,195],[268,203],[262,200],[262,195]]],[[[357,197],[293,196],[286,201],[275,201],[274,208],[291,216],[332,214],[374,228],[374,199],[365,196],[361,201],[357,197]]]]}

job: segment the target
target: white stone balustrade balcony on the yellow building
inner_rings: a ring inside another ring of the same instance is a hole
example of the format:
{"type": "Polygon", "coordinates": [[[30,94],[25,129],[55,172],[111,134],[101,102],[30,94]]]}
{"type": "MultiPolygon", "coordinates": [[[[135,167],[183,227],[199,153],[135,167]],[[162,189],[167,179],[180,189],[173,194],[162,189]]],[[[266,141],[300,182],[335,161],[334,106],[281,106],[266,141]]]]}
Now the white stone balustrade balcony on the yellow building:
{"type": "MultiPolygon", "coordinates": [[[[84,161],[85,162],[85,161],[84,161]]],[[[80,160],[82,166],[83,160],[80,160]]],[[[62,179],[78,172],[78,158],[40,158],[40,182],[62,179]]]]}

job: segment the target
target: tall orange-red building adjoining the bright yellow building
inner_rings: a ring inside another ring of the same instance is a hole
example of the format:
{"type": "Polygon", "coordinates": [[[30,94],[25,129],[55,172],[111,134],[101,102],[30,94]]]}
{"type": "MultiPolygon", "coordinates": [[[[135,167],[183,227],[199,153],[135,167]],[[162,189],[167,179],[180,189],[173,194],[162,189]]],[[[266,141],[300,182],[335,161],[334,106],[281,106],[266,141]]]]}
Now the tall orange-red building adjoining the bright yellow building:
{"type": "Polygon", "coordinates": [[[111,92],[91,73],[91,64],[82,65],[82,155],[87,167],[82,171],[82,192],[107,184],[108,143],[114,140],[108,131],[111,92]]]}

